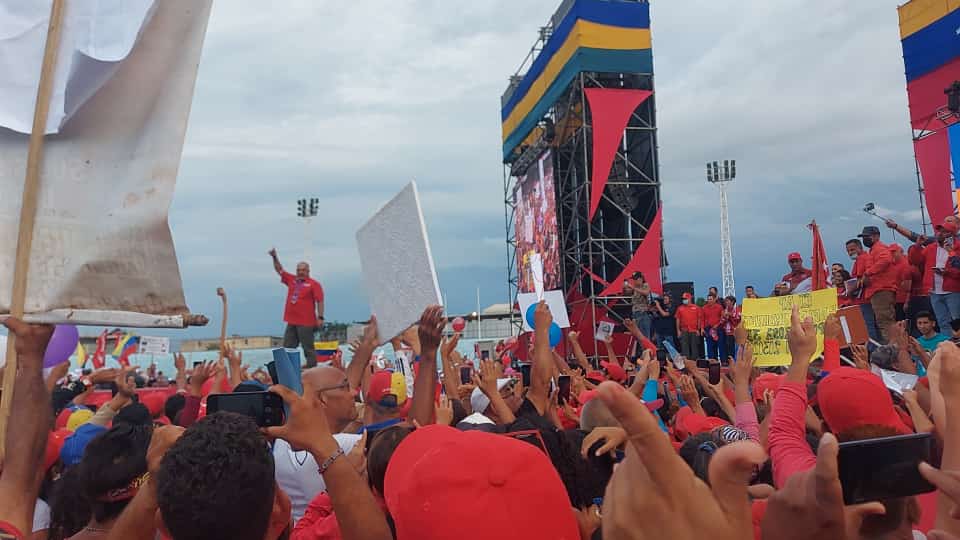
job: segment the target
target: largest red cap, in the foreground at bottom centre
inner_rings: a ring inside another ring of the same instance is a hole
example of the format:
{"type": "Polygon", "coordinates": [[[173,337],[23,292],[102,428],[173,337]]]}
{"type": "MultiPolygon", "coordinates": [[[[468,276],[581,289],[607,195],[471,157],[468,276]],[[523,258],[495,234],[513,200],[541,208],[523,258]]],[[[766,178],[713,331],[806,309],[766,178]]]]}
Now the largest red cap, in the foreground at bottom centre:
{"type": "Polygon", "coordinates": [[[446,540],[456,530],[458,540],[580,539],[550,459],[511,437],[440,425],[417,429],[390,458],[385,485],[397,538],[446,540]]]}

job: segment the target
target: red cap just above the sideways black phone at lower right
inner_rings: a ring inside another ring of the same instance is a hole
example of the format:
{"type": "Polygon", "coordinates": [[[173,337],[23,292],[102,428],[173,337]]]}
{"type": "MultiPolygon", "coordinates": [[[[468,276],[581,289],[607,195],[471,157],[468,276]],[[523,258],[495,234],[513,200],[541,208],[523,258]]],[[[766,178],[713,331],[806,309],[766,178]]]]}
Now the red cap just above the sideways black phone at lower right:
{"type": "Polygon", "coordinates": [[[823,419],[834,433],[866,425],[891,427],[913,433],[893,408],[883,380],[863,369],[835,369],[817,385],[817,402],[823,419]]]}

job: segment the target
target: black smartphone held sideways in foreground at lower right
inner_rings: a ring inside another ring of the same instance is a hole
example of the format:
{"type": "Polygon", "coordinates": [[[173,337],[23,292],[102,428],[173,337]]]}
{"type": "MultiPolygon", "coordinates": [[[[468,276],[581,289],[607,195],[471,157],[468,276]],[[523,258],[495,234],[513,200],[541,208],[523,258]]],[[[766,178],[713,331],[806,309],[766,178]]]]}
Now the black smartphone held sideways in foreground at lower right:
{"type": "Polygon", "coordinates": [[[859,504],[909,497],[936,489],[917,469],[930,461],[929,433],[840,443],[837,465],[843,503],[859,504]]]}

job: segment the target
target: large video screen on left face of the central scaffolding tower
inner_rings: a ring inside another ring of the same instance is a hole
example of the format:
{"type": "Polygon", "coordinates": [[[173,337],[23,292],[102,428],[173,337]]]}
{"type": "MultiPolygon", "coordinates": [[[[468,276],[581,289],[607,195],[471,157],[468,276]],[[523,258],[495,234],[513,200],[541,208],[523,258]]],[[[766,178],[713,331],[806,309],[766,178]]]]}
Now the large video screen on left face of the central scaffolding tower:
{"type": "Polygon", "coordinates": [[[553,154],[544,152],[517,181],[513,192],[516,205],[517,269],[520,292],[560,287],[560,244],[557,236],[557,200],[553,187],[553,154]],[[542,268],[542,273],[540,269],[542,268]]]}

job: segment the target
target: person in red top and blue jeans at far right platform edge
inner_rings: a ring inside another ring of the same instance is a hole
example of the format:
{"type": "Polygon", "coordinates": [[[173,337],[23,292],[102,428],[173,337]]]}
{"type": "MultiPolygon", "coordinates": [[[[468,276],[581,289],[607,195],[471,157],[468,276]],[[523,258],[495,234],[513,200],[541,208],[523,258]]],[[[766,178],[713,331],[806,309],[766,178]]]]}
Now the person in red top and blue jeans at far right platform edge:
{"type": "Polygon", "coordinates": [[[923,274],[923,288],[930,291],[930,304],[937,317],[940,333],[950,336],[950,321],[960,318],[960,258],[955,240],[958,226],[955,221],[944,221],[935,227],[936,242],[910,246],[907,256],[923,274]]]}

